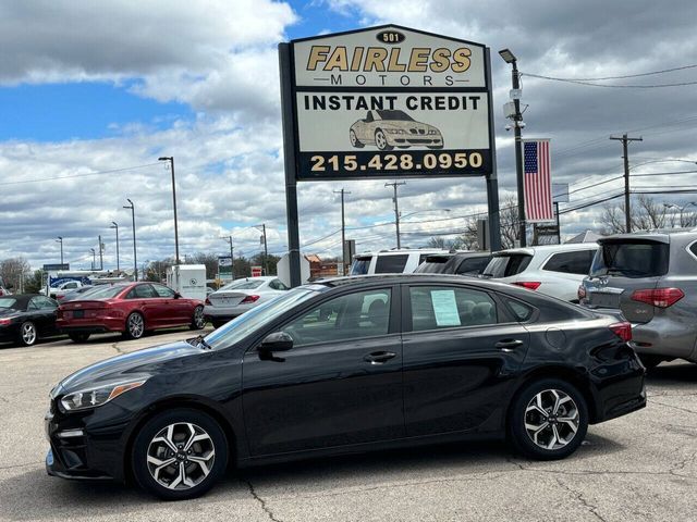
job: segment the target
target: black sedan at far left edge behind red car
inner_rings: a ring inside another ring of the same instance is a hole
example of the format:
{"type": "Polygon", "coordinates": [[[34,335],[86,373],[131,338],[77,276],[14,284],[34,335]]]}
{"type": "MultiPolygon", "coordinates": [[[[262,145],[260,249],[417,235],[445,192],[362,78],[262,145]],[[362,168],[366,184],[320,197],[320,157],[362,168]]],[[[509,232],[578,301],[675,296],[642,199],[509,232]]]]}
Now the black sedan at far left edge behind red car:
{"type": "Polygon", "coordinates": [[[57,309],[53,299],[37,294],[0,297],[0,341],[32,346],[41,337],[59,335],[57,309]]]}

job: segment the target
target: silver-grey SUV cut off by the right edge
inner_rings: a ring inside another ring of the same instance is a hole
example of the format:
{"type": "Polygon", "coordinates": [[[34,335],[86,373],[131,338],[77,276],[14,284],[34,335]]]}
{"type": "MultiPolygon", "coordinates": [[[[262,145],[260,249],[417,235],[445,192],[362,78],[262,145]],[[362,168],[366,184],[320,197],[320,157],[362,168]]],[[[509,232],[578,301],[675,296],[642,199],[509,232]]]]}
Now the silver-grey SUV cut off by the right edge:
{"type": "MultiPolygon", "coordinates": [[[[697,362],[697,228],[599,239],[580,304],[622,312],[647,368],[697,362]]],[[[600,311],[600,310],[599,310],[600,311]]]]}

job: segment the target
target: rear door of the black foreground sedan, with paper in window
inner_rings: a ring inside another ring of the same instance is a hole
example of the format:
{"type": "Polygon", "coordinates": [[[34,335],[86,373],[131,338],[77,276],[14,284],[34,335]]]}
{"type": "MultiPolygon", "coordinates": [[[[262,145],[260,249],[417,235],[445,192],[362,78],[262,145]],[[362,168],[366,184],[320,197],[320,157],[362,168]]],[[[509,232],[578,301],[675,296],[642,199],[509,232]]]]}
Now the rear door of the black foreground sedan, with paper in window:
{"type": "Polygon", "coordinates": [[[402,306],[406,435],[500,427],[525,327],[481,288],[404,285],[402,306]]]}

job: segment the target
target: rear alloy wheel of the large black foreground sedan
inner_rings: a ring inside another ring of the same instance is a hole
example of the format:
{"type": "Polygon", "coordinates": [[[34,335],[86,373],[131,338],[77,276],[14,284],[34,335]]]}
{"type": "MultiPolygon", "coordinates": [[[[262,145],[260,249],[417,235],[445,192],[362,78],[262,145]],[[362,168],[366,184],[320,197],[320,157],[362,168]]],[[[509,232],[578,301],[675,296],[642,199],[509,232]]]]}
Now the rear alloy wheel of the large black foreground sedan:
{"type": "Polygon", "coordinates": [[[567,446],[580,425],[578,407],[561,389],[545,389],[525,408],[525,431],[538,447],[557,450],[567,446]]]}

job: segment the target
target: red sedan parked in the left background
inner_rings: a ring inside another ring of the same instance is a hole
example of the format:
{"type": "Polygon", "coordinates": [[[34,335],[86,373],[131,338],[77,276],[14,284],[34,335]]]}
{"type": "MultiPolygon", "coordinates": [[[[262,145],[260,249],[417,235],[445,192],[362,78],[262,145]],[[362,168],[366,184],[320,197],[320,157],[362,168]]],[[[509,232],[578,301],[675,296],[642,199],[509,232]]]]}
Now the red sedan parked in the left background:
{"type": "Polygon", "coordinates": [[[206,325],[204,303],[186,299],[157,283],[121,283],[94,289],[84,299],[61,304],[56,326],[75,343],[90,334],[122,332],[137,339],[146,331],[189,325],[206,325]]]}

